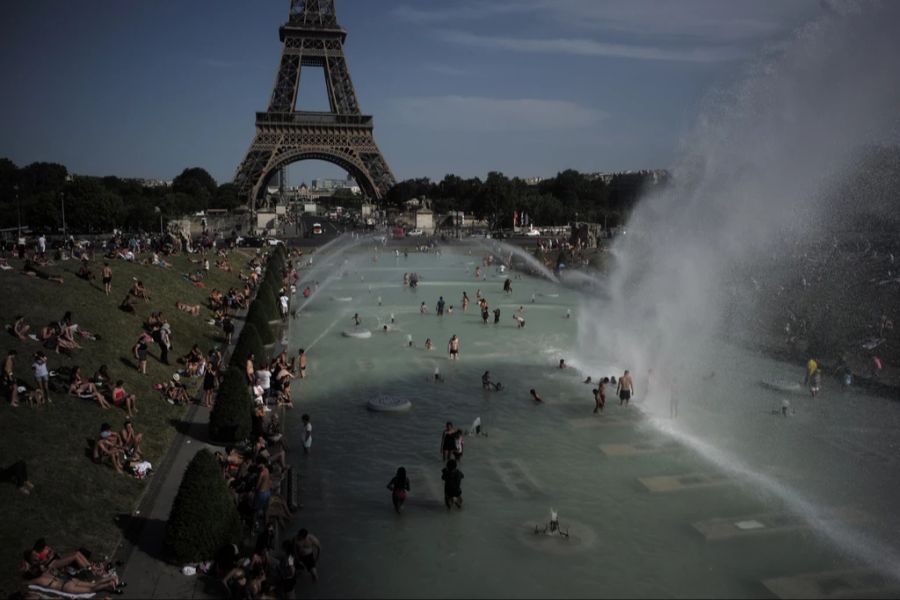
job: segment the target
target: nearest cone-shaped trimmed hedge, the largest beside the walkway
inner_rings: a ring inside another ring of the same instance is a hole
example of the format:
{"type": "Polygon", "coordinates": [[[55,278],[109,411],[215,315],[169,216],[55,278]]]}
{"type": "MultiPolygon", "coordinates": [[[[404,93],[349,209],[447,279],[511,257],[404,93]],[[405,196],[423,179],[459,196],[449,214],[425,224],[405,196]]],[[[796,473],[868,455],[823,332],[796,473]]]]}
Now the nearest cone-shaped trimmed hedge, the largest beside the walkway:
{"type": "Polygon", "coordinates": [[[176,564],[209,560],[240,537],[240,516],[221,467],[209,450],[201,450],[185,470],[169,514],[166,556],[176,564]]]}

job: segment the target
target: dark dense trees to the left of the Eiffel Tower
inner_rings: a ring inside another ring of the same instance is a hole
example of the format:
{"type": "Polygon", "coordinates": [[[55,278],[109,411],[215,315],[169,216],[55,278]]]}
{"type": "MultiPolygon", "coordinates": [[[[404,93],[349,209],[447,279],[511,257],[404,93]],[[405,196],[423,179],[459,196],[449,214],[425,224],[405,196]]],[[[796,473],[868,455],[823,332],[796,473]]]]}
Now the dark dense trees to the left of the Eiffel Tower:
{"type": "Polygon", "coordinates": [[[134,179],[70,175],[65,166],[35,162],[17,167],[0,158],[0,228],[21,223],[33,231],[102,233],[114,228],[158,231],[164,221],[208,208],[244,204],[231,183],[218,185],[201,168],[182,171],[170,186],[134,179]]]}

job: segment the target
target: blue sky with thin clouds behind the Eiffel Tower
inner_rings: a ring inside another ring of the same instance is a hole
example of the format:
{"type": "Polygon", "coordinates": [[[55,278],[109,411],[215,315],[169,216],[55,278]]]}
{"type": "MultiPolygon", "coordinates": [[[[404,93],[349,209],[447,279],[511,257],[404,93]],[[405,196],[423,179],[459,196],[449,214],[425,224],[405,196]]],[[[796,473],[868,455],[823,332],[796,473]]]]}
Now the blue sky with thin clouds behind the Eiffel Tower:
{"type": "MultiPolygon", "coordinates": [[[[0,19],[0,156],[230,180],[265,110],[288,0],[29,0],[0,19]]],[[[706,94],[817,2],[337,0],[398,179],[665,167],[706,94]]],[[[321,75],[301,84],[322,108],[321,75]],[[315,89],[309,89],[315,88],[315,89]]],[[[308,102],[307,102],[308,100],[308,102]]],[[[298,163],[292,181],[342,173],[298,163]]]]}

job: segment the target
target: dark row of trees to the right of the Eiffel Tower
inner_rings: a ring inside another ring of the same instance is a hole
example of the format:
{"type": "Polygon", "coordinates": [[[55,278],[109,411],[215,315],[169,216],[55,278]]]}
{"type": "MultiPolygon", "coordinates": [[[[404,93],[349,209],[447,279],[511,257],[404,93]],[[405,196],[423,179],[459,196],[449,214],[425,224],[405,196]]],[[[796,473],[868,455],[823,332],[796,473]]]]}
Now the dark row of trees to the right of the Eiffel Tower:
{"type": "Polygon", "coordinates": [[[491,171],[482,181],[446,175],[439,182],[407,179],[392,187],[385,200],[402,208],[412,198],[428,198],[436,213],[464,211],[488,222],[491,229],[512,227],[513,214],[525,212],[536,225],[566,225],[572,221],[624,223],[638,198],[668,175],[620,173],[604,179],[568,169],[531,185],[518,177],[491,171]]]}

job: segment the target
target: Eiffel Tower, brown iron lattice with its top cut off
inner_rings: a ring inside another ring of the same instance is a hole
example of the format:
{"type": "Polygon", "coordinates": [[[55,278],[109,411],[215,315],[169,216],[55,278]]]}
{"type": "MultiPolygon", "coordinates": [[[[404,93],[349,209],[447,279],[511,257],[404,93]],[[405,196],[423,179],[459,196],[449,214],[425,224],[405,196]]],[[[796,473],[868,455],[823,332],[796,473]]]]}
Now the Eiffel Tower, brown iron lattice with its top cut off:
{"type": "Polygon", "coordinates": [[[234,183],[256,208],[263,186],[290,163],[324,160],[350,173],[363,192],[380,199],[394,175],[375,144],[372,117],[359,110],[344,59],[347,32],[338,25],[334,0],[291,0],[288,22],[278,30],[284,47],[266,112],[256,113],[256,136],[234,183]],[[300,72],[321,67],[331,110],[297,111],[300,72]]]}

